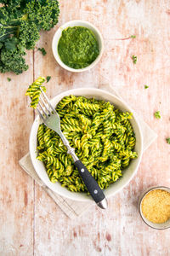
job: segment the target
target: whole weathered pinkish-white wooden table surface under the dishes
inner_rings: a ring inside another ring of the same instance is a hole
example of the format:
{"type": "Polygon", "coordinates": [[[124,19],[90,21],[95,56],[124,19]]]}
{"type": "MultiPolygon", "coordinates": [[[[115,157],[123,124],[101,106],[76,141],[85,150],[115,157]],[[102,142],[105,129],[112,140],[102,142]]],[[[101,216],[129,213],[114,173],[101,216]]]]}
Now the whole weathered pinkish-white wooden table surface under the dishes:
{"type": "Polygon", "coordinates": [[[170,229],[152,230],[139,217],[137,202],[151,185],[170,185],[170,2],[169,0],[60,1],[59,23],[42,32],[29,51],[29,70],[0,75],[1,202],[0,255],[96,256],[170,255],[170,229]],[[105,41],[99,64],[86,73],[69,73],[54,60],[51,42],[68,20],[88,20],[105,41]],[[129,38],[136,35],[136,38],[129,38]],[[137,55],[134,65],[132,55],[137,55]],[[51,76],[48,96],[80,87],[110,83],[156,131],[139,171],[125,189],[109,200],[109,208],[90,207],[71,220],[19,166],[28,152],[34,113],[26,89],[39,75],[51,76]],[[11,82],[7,81],[10,77],[11,82]],[[149,89],[144,89],[148,84],[149,89]],[[153,113],[161,112],[161,119],[153,113]]]}

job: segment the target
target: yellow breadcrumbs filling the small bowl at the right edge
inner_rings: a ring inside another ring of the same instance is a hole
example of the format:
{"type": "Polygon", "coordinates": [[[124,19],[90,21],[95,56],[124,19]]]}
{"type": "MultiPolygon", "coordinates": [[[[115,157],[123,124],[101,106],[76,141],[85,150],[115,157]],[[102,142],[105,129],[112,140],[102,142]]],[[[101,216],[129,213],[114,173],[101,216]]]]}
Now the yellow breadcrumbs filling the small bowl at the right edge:
{"type": "Polygon", "coordinates": [[[170,218],[170,193],[162,190],[151,190],[142,201],[144,217],[153,223],[165,223],[170,218]]]}

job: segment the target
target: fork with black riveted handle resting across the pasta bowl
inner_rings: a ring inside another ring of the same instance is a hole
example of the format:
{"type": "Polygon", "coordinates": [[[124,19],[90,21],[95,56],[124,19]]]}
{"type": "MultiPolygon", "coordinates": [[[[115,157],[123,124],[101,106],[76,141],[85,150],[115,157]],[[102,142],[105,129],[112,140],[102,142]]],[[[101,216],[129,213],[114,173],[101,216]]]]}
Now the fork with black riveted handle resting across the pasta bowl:
{"type": "Polygon", "coordinates": [[[96,202],[97,206],[106,209],[107,208],[107,200],[105,198],[105,194],[102,189],[99,188],[99,184],[96,182],[94,177],[88,172],[86,166],[82,164],[82,161],[78,159],[77,155],[75,154],[75,148],[71,148],[68,140],[65,138],[63,132],[60,129],[60,118],[59,114],[51,105],[50,101],[48,100],[48,96],[44,93],[42,88],[40,87],[42,95],[40,95],[40,101],[38,102],[38,106],[40,109],[37,108],[37,112],[42,119],[44,125],[48,128],[56,131],[59,134],[62,142],[67,148],[67,154],[71,154],[72,159],[74,160],[74,164],[77,167],[77,170],[82,177],[83,182],[85,183],[88,192],[96,202]]]}

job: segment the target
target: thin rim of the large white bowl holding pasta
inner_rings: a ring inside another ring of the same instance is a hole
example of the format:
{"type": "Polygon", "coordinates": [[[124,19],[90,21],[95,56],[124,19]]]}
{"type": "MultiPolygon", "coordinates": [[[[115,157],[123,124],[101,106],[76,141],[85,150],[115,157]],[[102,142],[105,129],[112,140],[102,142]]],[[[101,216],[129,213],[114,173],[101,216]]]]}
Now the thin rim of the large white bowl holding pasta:
{"type": "MultiPolygon", "coordinates": [[[[83,91],[84,91],[84,90],[86,90],[86,91],[88,90],[88,91],[89,91],[89,94],[92,93],[92,96],[93,96],[93,92],[95,93],[95,92],[98,91],[98,92],[100,93],[100,95],[105,94],[105,95],[107,95],[107,96],[111,96],[111,97],[115,98],[118,102],[121,102],[121,103],[123,104],[124,108],[127,108],[127,109],[128,109],[127,111],[130,111],[130,112],[133,113],[133,119],[134,119],[135,124],[137,125],[137,127],[138,127],[138,129],[139,129],[139,140],[140,140],[140,144],[139,144],[139,152],[138,152],[138,153],[139,153],[139,157],[138,157],[138,159],[137,159],[137,160],[138,160],[137,165],[135,166],[135,168],[134,168],[133,173],[131,174],[131,176],[128,177],[127,181],[126,181],[125,183],[123,183],[122,186],[120,186],[118,189],[116,189],[116,191],[112,192],[110,195],[106,195],[106,197],[109,198],[109,197],[111,197],[112,195],[116,195],[117,192],[119,192],[121,189],[123,189],[125,186],[127,186],[127,184],[130,183],[130,181],[133,179],[134,175],[135,175],[136,172],[138,171],[139,164],[140,164],[140,162],[141,162],[142,154],[143,154],[143,135],[142,135],[142,131],[141,131],[141,128],[140,128],[140,125],[139,125],[139,119],[136,117],[136,113],[133,111],[133,109],[130,108],[130,107],[128,106],[128,104],[127,104],[126,102],[124,102],[124,100],[122,100],[122,98],[119,98],[119,97],[117,97],[117,96],[111,94],[111,92],[108,92],[108,91],[106,91],[106,90],[101,90],[101,89],[97,89],[97,88],[77,88],[77,89],[72,89],[72,90],[65,90],[65,91],[59,93],[58,95],[54,96],[54,98],[51,99],[50,102],[51,102],[52,105],[53,105],[53,102],[55,101],[56,97],[63,98],[63,97],[66,96],[66,95],[67,95],[67,96],[69,96],[69,95],[71,95],[71,94],[74,95],[75,91],[77,91],[77,93],[78,93],[79,95],[82,95],[82,96],[83,96],[83,91]]],[[[77,94],[76,94],[76,95],[77,95],[77,94]]],[[[105,101],[107,101],[107,100],[105,99],[105,101]]],[[[109,101],[109,100],[108,100],[108,101],[109,101]]],[[[114,104],[114,102],[112,102],[112,104],[114,104]]],[[[37,115],[36,118],[34,119],[34,122],[33,122],[32,126],[31,126],[31,132],[30,132],[30,138],[29,138],[29,151],[30,151],[30,155],[31,155],[31,163],[32,163],[32,165],[34,166],[34,169],[35,169],[35,171],[37,172],[38,177],[40,177],[41,180],[42,180],[42,182],[45,183],[45,185],[48,186],[48,182],[47,182],[46,180],[42,179],[42,177],[41,177],[41,175],[40,175],[40,172],[37,170],[37,165],[36,165],[36,160],[37,160],[37,159],[36,159],[36,158],[34,157],[34,155],[33,155],[33,152],[34,152],[35,148],[33,148],[33,145],[32,145],[32,137],[33,137],[33,135],[34,135],[35,126],[37,125],[37,122],[38,122],[38,124],[39,124],[39,121],[40,121],[40,119],[39,119],[39,116],[37,115]]],[[[37,137],[37,136],[36,136],[36,137],[37,137]]],[[[48,186],[48,188],[49,188],[49,186],[48,186]]],[[[52,188],[49,188],[49,189],[52,189],[52,188]]],[[[52,189],[52,190],[54,190],[54,189],[52,189]]],[[[106,190],[105,190],[105,191],[106,191],[106,190]]],[[[71,191],[69,191],[69,192],[70,192],[69,195],[65,195],[65,193],[62,193],[61,191],[56,191],[56,190],[55,190],[54,192],[57,193],[57,194],[59,194],[59,195],[61,195],[61,196],[66,197],[66,198],[68,198],[68,199],[71,199],[71,200],[73,200],[73,201],[92,201],[91,197],[89,197],[89,196],[84,196],[84,197],[83,197],[83,196],[80,196],[81,198],[80,198],[80,197],[77,198],[77,196],[74,196],[73,192],[71,192],[71,191]]],[[[80,195],[80,193],[79,193],[79,195],[80,195]]]]}

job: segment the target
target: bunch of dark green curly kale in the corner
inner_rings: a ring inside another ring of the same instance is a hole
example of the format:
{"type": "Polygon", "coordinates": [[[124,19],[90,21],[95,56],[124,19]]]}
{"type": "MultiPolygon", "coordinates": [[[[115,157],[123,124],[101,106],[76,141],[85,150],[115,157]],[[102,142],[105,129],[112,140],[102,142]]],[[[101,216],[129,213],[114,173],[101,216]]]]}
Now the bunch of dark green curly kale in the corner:
{"type": "Polygon", "coordinates": [[[34,49],[41,30],[58,22],[57,0],[0,0],[0,72],[22,73],[28,69],[24,55],[34,49]]]}

